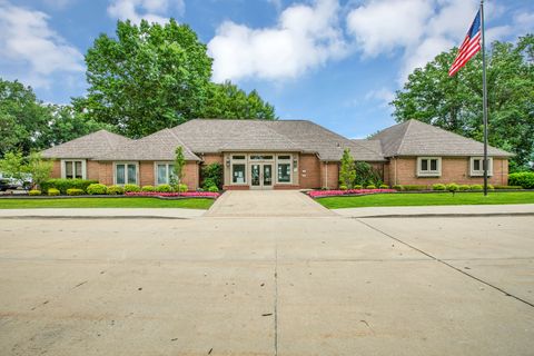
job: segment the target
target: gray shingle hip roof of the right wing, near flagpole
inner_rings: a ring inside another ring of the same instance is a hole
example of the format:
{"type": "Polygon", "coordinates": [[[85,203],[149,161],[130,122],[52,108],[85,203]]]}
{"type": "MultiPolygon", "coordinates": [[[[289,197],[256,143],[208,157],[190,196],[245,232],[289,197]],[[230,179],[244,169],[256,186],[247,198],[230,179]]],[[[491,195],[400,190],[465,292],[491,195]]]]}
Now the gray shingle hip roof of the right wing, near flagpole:
{"type": "MultiPolygon", "coordinates": [[[[484,145],[438,127],[408,120],[372,137],[380,140],[385,157],[394,156],[482,156],[484,145]]],[[[511,157],[511,152],[488,146],[488,155],[511,157]]]]}

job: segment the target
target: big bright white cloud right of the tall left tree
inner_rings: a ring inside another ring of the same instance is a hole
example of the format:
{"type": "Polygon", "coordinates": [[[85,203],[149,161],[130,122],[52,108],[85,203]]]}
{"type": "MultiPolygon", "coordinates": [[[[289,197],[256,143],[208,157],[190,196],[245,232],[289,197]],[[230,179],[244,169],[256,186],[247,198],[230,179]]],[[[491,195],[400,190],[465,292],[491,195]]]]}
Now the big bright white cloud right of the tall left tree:
{"type": "Polygon", "coordinates": [[[285,9],[273,28],[224,22],[208,43],[214,80],[294,78],[346,55],[336,0],[285,9]]]}

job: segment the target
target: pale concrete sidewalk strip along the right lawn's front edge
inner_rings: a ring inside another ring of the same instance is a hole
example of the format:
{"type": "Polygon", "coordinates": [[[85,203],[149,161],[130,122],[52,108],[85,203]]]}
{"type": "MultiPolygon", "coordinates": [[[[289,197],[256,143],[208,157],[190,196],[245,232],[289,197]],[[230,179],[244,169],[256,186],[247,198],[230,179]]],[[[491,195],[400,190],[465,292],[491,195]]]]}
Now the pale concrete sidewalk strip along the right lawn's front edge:
{"type": "Polygon", "coordinates": [[[534,204],[510,205],[449,205],[429,207],[376,207],[347,208],[332,211],[350,218],[367,217],[455,217],[455,216],[498,216],[498,215],[534,215],[534,204]]]}

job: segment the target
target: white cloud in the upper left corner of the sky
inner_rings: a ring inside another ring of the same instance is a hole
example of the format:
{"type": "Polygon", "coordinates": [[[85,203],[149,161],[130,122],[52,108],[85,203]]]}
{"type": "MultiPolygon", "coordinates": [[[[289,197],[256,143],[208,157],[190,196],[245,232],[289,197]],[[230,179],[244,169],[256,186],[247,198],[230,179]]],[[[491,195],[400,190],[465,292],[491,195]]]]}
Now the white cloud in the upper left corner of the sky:
{"type": "MultiPolygon", "coordinates": [[[[17,79],[33,87],[48,87],[57,72],[81,72],[83,56],[49,27],[40,11],[0,0],[0,62],[17,79]]],[[[13,78],[14,79],[14,78],[13,78]]]]}

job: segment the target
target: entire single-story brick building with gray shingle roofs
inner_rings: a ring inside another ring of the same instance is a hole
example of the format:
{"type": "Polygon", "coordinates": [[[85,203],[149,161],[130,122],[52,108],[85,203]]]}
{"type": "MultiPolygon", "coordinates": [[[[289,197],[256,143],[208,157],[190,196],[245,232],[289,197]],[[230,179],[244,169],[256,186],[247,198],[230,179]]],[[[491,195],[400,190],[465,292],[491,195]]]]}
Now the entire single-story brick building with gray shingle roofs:
{"type": "MultiPolygon", "coordinates": [[[[345,148],[387,185],[482,182],[481,142],[417,120],[350,140],[306,120],[196,119],[136,140],[100,130],[42,155],[55,160],[53,178],[157,186],[169,182],[178,146],[189,189],[199,188],[200,168],[212,162],[224,167],[225,189],[337,188],[345,148]]],[[[511,156],[490,148],[491,184],[507,184],[511,156]]]]}

